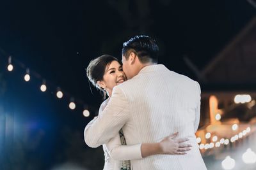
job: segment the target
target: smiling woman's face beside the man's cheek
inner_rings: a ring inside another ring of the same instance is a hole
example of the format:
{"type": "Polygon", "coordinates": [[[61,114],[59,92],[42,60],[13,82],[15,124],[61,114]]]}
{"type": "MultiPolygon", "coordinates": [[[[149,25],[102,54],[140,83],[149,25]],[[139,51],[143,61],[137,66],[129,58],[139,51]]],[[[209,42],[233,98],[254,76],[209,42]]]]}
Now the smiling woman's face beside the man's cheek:
{"type": "Polygon", "coordinates": [[[116,85],[123,83],[126,80],[122,66],[116,60],[113,60],[106,67],[103,80],[99,82],[100,87],[108,91],[111,96],[112,90],[116,85]]]}

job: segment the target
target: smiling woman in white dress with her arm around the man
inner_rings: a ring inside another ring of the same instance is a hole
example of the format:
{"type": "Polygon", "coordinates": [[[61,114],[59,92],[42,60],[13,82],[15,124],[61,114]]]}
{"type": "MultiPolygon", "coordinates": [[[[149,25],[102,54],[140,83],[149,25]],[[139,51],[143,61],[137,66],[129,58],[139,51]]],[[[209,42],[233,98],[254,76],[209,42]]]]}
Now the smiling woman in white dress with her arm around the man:
{"type": "MultiPolygon", "coordinates": [[[[102,55],[92,60],[86,69],[87,77],[92,84],[99,89],[106,99],[111,97],[113,87],[126,80],[122,65],[111,55],[102,55]]],[[[100,106],[99,115],[108,104],[109,98],[100,106]]],[[[177,133],[167,136],[159,143],[142,143],[138,145],[126,145],[124,134],[120,129],[119,134],[103,145],[105,164],[104,170],[132,169],[130,160],[142,159],[156,154],[186,154],[189,147],[182,147],[180,143],[188,139],[176,141],[177,133]]]]}

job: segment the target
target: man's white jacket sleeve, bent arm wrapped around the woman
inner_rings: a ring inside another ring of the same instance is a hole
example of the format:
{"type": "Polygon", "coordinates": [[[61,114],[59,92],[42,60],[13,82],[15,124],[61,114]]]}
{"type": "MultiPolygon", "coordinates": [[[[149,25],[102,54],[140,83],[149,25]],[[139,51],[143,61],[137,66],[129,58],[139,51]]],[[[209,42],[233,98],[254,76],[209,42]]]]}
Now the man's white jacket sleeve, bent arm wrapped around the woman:
{"type": "Polygon", "coordinates": [[[115,137],[125,122],[129,120],[128,107],[129,103],[122,90],[114,87],[108,106],[99,117],[86,125],[84,129],[85,143],[92,148],[108,143],[109,139],[115,137]]]}

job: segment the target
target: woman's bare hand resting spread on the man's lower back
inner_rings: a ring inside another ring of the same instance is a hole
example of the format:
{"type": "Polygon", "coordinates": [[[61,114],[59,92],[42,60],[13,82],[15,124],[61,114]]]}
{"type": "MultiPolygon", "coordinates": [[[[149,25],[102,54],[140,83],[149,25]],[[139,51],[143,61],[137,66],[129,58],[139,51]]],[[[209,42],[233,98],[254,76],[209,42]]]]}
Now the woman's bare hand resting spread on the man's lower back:
{"type": "Polygon", "coordinates": [[[184,142],[189,141],[188,138],[175,139],[178,132],[167,136],[160,143],[160,150],[162,154],[170,155],[185,155],[186,151],[191,150],[191,145],[184,142]]]}

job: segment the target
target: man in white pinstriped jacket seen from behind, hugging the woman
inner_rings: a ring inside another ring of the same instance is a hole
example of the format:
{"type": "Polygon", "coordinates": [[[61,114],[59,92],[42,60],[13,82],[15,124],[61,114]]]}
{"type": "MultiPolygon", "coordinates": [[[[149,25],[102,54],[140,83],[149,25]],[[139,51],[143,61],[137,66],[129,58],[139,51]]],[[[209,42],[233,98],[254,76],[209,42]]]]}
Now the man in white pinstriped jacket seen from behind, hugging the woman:
{"type": "Polygon", "coordinates": [[[131,160],[133,169],[206,169],[195,132],[200,120],[200,86],[157,64],[158,46],[148,36],[135,36],[122,49],[129,80],[113,89],[102,114],[84,129],[91,147],[107,143],[122,128],[127,145],[154,143],[179,132],[193,146],[186,155],[154,155],[131,160]]]}

